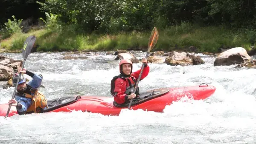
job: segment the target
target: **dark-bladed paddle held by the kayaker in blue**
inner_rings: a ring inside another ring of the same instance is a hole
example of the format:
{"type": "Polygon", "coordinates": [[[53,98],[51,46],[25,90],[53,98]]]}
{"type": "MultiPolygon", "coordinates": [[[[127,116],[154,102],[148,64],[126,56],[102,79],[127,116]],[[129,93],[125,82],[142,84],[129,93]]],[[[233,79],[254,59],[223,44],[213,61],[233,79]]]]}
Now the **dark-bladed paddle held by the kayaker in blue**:
{"type": "MultiPolygon", "coordinates": [[[[33,48],[33,46],[35,44],[35,40],[36,40],[35,36],[29,36],[29,37],[26,38],[26,41],[24,42],[23,49],[22,49],[23,63],[22,63],[22,68],[21,69],[24,68],[26,58],[29,56],[29,54],[31,52],[31,49],[33,48]]],[[[20,80],[20,76],[21,76],[21,73],[20,73],[20,75],[18,77],[18,80],[17,80],[16,86],[15,86],[14,92],[12,93],[12,99],[15,97],[15,92],[17,90],[17,86],[18,86],[18,83],[19,83],[19,80],[20,80]]],[[[5,118],[9,115],[11,106],[12,106],[12,103],[9,104],[9,108],[7,110],[5,118]]]]}

